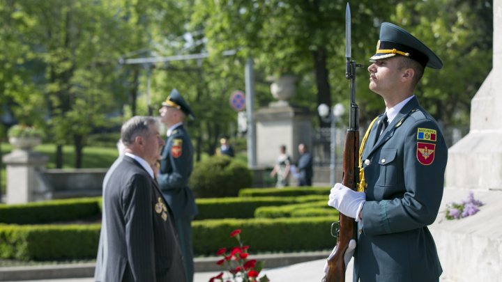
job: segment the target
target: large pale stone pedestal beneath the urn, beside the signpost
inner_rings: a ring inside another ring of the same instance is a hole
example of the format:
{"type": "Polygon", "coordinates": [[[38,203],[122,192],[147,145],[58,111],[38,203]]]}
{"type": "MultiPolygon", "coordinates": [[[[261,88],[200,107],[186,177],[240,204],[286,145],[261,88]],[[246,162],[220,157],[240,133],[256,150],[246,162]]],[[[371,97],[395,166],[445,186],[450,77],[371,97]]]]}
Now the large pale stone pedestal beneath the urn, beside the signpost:
{"type": "Polygon", "coordinates": [[[298,144],[312,148],[312,117],[307,109],[275,103],[254,113],[257,130],[257,165],[271,167],[279,155],[279,147],[285,145],[287,153],[296,162],[298,144]]]}

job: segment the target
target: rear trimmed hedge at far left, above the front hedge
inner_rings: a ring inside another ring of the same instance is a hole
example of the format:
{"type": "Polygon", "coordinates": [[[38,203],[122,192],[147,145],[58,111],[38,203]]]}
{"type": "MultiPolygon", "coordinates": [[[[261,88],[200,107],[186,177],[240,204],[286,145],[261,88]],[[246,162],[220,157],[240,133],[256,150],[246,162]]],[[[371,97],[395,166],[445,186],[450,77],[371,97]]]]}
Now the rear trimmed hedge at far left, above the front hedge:
{"type": "Polygon", "coordinates": [[[43,224],[98,217],[100,214],[101,197],[0,205],[0,223],[3,224],[43,224]]]}

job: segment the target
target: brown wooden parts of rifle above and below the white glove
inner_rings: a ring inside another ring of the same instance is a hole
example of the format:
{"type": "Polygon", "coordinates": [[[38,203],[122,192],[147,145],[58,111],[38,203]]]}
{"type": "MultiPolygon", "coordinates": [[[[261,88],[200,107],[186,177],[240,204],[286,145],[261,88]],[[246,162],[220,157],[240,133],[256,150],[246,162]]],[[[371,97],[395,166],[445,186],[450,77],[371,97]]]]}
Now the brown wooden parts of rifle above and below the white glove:
{"type": "MultiPolygon", "coordinates": [[[[343,180],[342,184],[357,191],[359,159],[359,131],[347,130],[343,155],[343,180]]],[[[354,238],[354,219],[340,213],[338,223],[337,247],[333,258],[328,260],[327,282],[345,282],[344,254],[350,240],[354,238]]]]}

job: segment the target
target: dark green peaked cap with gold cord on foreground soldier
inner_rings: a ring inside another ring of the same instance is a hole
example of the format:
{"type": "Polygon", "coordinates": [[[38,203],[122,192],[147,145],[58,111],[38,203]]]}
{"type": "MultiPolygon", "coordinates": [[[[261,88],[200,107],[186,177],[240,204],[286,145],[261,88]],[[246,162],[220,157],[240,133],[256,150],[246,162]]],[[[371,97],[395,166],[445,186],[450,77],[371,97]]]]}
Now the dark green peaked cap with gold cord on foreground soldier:
{"type": "Polygon", "coordinates": [[[390,22],[383,22],[380,27],[377,53],[370,58],[370,61],[374,62],[381,58],[396,55],[412,58],[424,67],[443,68],[441,59],[415,36],[412,36],[400,26],[390,24],[390,22]]]}

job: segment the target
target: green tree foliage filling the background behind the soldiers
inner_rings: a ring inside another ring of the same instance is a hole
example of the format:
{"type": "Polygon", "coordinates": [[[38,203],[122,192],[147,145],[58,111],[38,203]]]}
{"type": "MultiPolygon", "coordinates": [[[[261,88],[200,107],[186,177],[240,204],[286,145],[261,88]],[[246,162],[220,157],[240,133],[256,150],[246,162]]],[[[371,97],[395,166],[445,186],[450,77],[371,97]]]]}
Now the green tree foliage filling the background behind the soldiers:
{"type": "MultiPolygon", "coordinates": [[[[250,57],[255,107],[271,102],[270,77],[286,73],[299,77],[292,103],[311,111],[321,102],[348,104],[346,5],[339,0],[0,0],[0,104],[18,121],[46,127],[58,148],[73,144],[78,167],[89,133],[132,115],[155,115],[178,88],[197,116],[188,126],[197,155],[213,155],[221,134],[236,131],[229,96],[244,90],[250,57]],[[222,56],[229,49],[236,55],[222,56]],[[199,60],[124,63],[206,52],[209,58],[199,60]]],[[[427,70],[419,84],[416,95],[423,106],[445,125],[468,125],[470,101],[491,68],[492,9],[485,0],[351,3],[352,57],[364,65],[356,91],[361,124],[383,111],[381,97],[367,87],[367,58],[374,54],[381,22],[394,22],[444,62],[443,70],[427,70]]]]}

